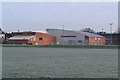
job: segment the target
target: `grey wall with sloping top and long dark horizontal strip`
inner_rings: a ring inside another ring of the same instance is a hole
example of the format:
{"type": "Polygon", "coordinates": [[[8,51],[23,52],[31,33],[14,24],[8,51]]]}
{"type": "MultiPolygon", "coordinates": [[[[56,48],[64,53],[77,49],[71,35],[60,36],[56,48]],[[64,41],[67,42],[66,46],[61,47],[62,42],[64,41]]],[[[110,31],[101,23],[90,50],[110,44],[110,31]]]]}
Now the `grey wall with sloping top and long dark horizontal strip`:
{"type": "Polygon", "coordinates": [[[75,31],[60,30],[60,29],[47,29],[47,32],[53,36],[56,36],[56,40],[59,44],[65,45],[81,45],[85,44],[85,36],[75,31]],[[61,36],[76,36],[76,37],[61,37],[61,36]],[[82,42],[78,42],[82,41],[82,42]]]}

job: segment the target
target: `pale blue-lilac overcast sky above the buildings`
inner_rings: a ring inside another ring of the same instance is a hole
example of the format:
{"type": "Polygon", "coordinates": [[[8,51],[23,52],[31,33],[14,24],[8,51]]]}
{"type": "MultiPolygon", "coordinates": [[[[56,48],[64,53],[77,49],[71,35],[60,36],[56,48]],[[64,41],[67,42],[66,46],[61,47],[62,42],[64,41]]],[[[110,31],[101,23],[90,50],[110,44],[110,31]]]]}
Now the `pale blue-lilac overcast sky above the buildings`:
{"type": "Polygon", "coordinates": [[[2,27],[5,31],[45,31],[46,28],[95,31],[118,28],[117,2],[4,2],[2,27]]]}

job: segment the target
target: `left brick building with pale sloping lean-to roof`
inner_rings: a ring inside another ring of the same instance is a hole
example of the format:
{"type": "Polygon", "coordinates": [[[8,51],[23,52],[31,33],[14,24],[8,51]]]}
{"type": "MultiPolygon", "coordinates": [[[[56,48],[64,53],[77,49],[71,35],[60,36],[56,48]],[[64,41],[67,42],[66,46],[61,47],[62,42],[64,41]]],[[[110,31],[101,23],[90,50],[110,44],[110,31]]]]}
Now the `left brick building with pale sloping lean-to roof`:
{"type": "Polygon", "coordinates": [[[56,37],[40,32],[14,32],[9,44],[50,45],[56,44],[56,37]]]}

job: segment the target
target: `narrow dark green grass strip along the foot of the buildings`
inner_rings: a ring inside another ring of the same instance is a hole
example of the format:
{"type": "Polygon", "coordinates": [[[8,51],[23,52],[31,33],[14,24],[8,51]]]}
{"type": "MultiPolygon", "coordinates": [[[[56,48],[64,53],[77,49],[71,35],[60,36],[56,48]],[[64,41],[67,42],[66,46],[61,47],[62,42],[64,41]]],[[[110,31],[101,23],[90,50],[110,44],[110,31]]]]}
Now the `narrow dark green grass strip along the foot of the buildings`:
{"type": "Polygon", "coordinates": [[[2,47],[36,47],[36,48],[84,48],[84,49],[119,49],[120,46],[108,45],[14,45],[2,44],[2,47]]]}

